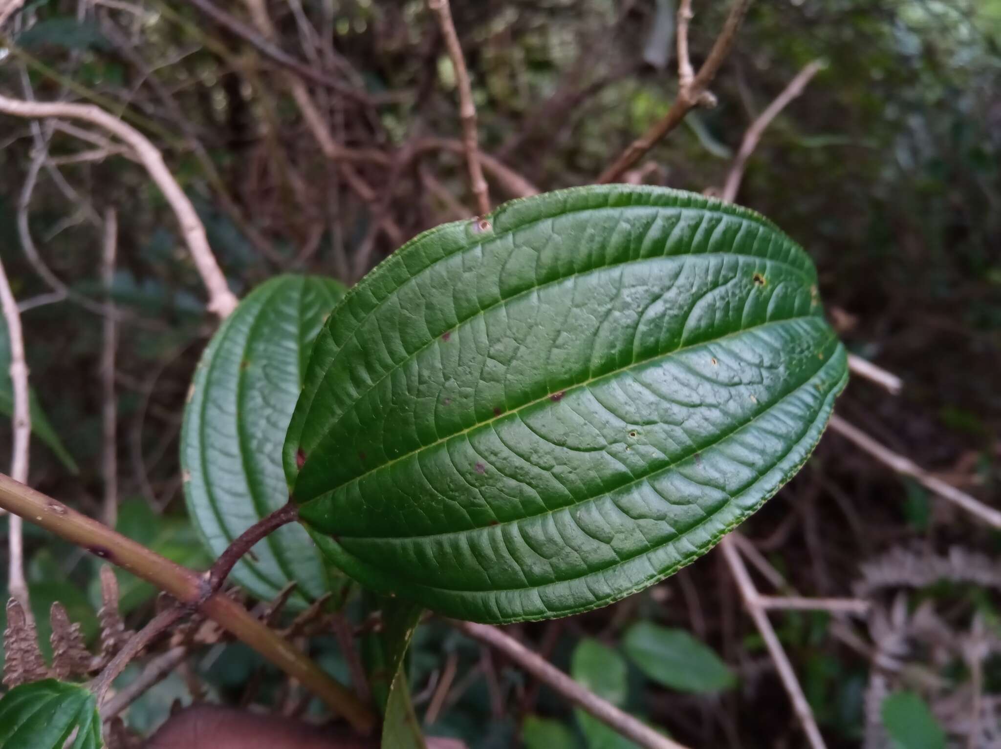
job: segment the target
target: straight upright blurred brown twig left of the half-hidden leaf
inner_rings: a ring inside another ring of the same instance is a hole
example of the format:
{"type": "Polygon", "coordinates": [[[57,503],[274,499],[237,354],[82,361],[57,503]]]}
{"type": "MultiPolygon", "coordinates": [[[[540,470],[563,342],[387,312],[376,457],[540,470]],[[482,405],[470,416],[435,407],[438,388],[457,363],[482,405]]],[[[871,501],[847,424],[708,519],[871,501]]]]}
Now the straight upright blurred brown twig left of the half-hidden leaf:
{"type": "Polygon", "coordinates": [[[104,330],[101,343],[101,423],[104,445],[101,473],[104,480],[104,524],[114,528],[118,519],[118,443],[116,430],[118,408],[115,401],[115,349],[118,327],[111,288],[115,275],[115,254],[118,250],[118,214],[109,208],[104,214],[104,243],[101,253],[101,280],[104,282],[104,330]]]}

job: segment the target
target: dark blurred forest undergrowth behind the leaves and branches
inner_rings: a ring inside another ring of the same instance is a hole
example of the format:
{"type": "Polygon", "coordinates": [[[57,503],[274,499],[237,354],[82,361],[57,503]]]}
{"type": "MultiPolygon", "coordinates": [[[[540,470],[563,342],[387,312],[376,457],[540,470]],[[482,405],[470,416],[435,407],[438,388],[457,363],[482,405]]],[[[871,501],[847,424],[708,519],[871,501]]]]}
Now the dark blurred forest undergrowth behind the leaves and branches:
{"type": "MultiPolygon", "coordinates": [[[[372,188],[368,196],[324,158],[289,98],[284,74],[188,4],[83,3],[82,16],[67,0],[29,5],[17,39],[24,54],[0,61],[0,91],[24,98],[27,70],[40,100],[95,100],[116,114],[141,117],[137,126],[163,149],[195,201],[239,294],[282,271],[350,282],[394,249],[374,229],[384,218],[405,239],[472,213],[460,151],[434,140],[457,142],[459,121],[453,71],[421,2],[270,3],[283,49],[367,92],[359,103],[312,88],[341,143],[387,155],[354,162],[372,188]],[[310,27],[297,22],[300,7],[310,27]],[[308,28],[318,32],[318,42],[308,28]],[[219,182],[207,174],[193,138],[219,182]],[[227,212],[225,200],[237,211],[227,212]]],[[[674,5],[455,0],[482,150],[540,190],[592,182],[672,102],[677,75],[664,21],[674,5]]],[[[726,4],[697,0],[695,6],[698,63],[726,4]]],[[[240,4],[227,11],[243,17],[240,4]]],[[[816,58],[826,69],[765,134],[738,202],[807,248],[850,349],[906,382],[903,394],[891,397],[856,379],[839,413],[988,504],[997,502],[1001,3],[761,0],[712,87],[719,105],[690,115],[631,178],[718,188],[750,122],[816,58]]],[[[16,228],[33,154],[27,121],[0,119],[0,252],[15,295],[31,299],[49,288],[26,262],[16,228]]],[[[51,142],[56,159],[86,148],[63,133],[51,142]]],[[[510,197],[500,181],[487,177],[494,203],[510,197]]],[[[28,215],[52,271],[78,294],[100,300],[101,238],[88,216],[106,207],[119,214],[114,300],[128,314],[115,377],[119,526],[161,553],[203,564],[184,518],[177,436],[188,383],[214,324],[172,214],[140,167],[109,157],[62,165],[59,174],[43,169],[28,215]]],[[[64,301],[36,307],[23,319],[33,387],[79,465],[72,475],[35,442],[31,483],[97,514],[101,318],[64,301]]],[[[0,429],[0,440],[8,439],[9,431],[0,429]]],[[[824,439],[800,476],[742,531],[787,577],[791,588],[779,592],[844,597],[878,588],[868,619],[772,615],[831,746],[887,745],[878,726],[880,695],[902,689],[922,695],[957,745],[988,745],[983,726],[982,736],[965,743],[963,721],[974,709],[987,724],[1001,714],[994,712],[1001,706],[996,532],[836,435],[824,439]],[[909,570],[949,554],[953,572],[934,585],[907,583],[909,570]],[[863,565],[873,560],[878,564],[867,572],[863,565]],[[978,565],[986,576],[971,582],[964,571],[978,565]],[[873,575],[890,583],[866,583],[873,575]],[[915,625],[919,615],[941,625],[935,636],[915,625]],[[961,645],[970,642],[980,650],[965,657],[961,645]]],[[[62,600],[93,633],[93,560],[30,526],[26,532],[35,606],[45,611],[48,602],[62,600]]],[[[773,592],[764,578],[759,584],[773,592]]],[[[141,623],[151,611],[151,591],[130,591],[126,608],[141,623]]],[[[730,665],[737,683],[718,695],[686,694],[644,679],[631,666],[630,710],[693,746],[803,745],[762,641],[716,554],[613,607],[522,626],[517,634],[569,669],[581,638],[618,648],[640,619],[690,630],[730,665]]],[[[312,647],[321,662],[343,669],[332,640],[317,638],[312,647]]],[[[449,661],[454,679],[430,733],[461,737],[476,749],[513,746],[522,736],[544,749],[560,749],[560,741],[599,745],[554,695],[434,622],[418,633],[412,656],[418,711],[427,709],[449,661]],[[555,722],[526,723],[528,715],[555,722]],[[540,739],[544,729],[556,738],[540,739]]],[[[212,699],[280,707],[287,695],[277,673],[265,670],[262,686],[246,696],[260,668],[237,645],[196,652],[184,673],[143,698],[127,722],[148,731],[175,698],[190,700],[192,683],[212,699]]]]}

